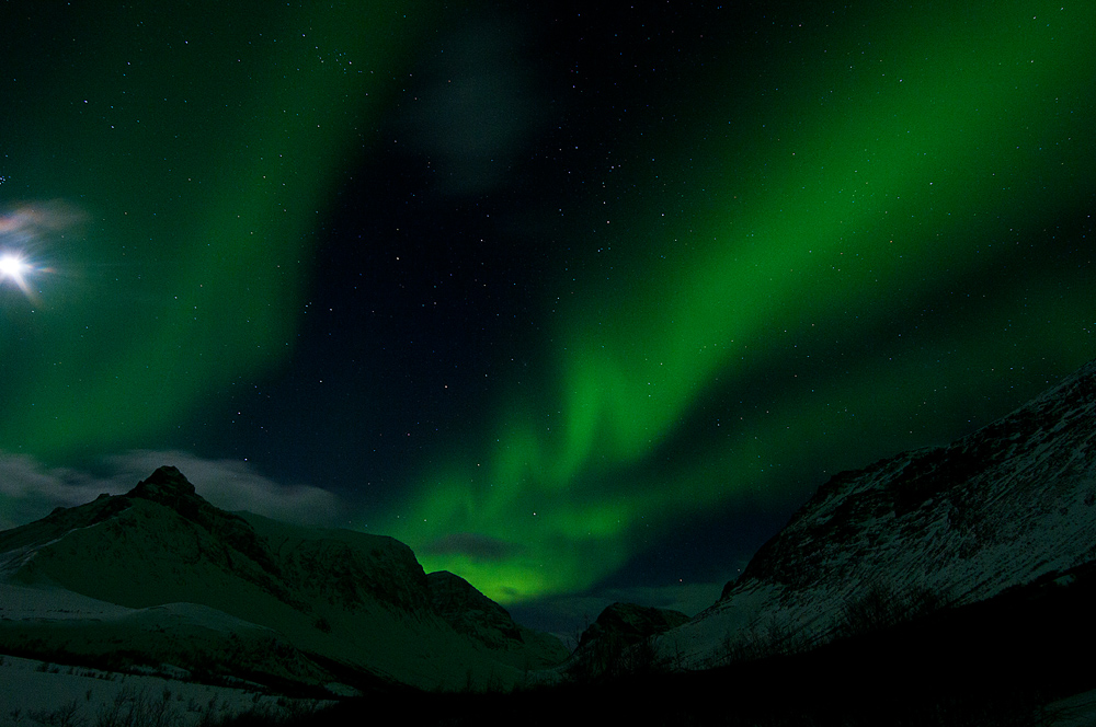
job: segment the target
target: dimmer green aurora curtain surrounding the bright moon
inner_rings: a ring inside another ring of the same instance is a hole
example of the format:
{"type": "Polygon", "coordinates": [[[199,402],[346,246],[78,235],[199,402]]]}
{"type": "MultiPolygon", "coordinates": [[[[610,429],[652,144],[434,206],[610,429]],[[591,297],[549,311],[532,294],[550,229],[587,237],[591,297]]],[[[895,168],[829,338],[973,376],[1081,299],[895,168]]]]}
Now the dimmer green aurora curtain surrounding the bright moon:
{"type": "MultiPolygon", "coordinates": [[[[4,192],[88,219],[26,251],[57,258],[42,304],[7,307],[9,451],[138,446],[293,353],[309,231],[416,27],[408,3],[197,4],[89,9],[56,32],[64,61],[16,86],[4,192]]],[[[23,22],[15,37],[56,20],[23,22]]]]}

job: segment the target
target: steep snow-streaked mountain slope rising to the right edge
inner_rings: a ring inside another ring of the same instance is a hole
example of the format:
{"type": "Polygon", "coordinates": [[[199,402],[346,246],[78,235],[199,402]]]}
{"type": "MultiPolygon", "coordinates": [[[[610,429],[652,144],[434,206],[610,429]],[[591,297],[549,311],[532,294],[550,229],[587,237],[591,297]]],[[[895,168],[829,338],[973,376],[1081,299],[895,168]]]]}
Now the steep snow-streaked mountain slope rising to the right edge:
{"type": "Polygon", "coordinates": [[[1096,361],[958,441],[826,482],[720,599],[659,641],[687,668],[803,650],[1096,558],[1096,361]]]}

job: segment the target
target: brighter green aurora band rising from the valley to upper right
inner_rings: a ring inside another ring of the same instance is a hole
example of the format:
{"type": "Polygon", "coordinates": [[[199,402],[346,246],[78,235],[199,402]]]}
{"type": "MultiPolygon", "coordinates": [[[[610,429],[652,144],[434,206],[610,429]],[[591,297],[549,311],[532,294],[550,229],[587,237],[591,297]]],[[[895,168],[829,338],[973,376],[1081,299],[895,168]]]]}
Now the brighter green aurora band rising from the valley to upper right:
{"type": "MultiPolygon", "coordinates": [[[[717,100],[707,113],[729,119],[726,143],[703,142],[704,151],[692,153],[726,160],[726,174],[690,188],[707,188],[726,211],[682,215],[655,229],[650,209],[673,209],[674,199],[619,210],[638,220],[633,229],[650,221],[650,231],[632,240],[598,233],[600,245],[626,251],[618,261],[626,273],[596,268],[586,277],[597,282],[570,289],[560,280],[555,393],[505,402],[484,460],[427,473],[424,492],[406,508],[414,515],[395,534],[427,570],[471,573],[473,585],[504,603],[578,590],[635,552],[638,528],[750,493],[778,498],[779,471],[758,460],[818,457],[847,466],[833,452],[858,451],[864,426],[895,429],[888,417],[911,416],[933,390],[924,372],[938,376],[929,364],[939,348],[906,353],[903,365],[886,370],[838,374],[817,391],[773,392],[770,415],[741,425],[704,464],[684,463],[660,478],[642,466],[717,380],[764,371],[800,345],[803,356],[832,359],[840,351],[820,339],[822,331],[831,341],[835,331],[855,339],[1006,257],[991,238],[1000,215],[1015,216],[1017,191],[1031,207],[1023,223],[1032,224],[1044,207],[1076,194],[1071,180],[1092,180],[1094,119],[1083,101],[1089,80],[1077,69],[1096,60],[1096,11],[1038,4],[956,10],[920,32],[893,32],[909,20],[894,12],[857,31],[878,39],[865,55],[848,37],[849,48],[819,56],[808,80],[787,79],[803,86],[795,92],[799,103],[750,114],[717,100]],[[843,82],[849,64],[864,67],[850,86],[843,82]],[[743,151],[739,136],[756,146],[743,151]],[[1042,138],[1073,146],[1042,148],[1042,138]],[[861,411],[859,422],[833,414],[842,402],[861,411]],[[807,445],[804,431],[815,432],[807,445]],[[507,544],[516,555],[472,561],[430,552],[455,532],[507,544]]],[[[1064,342],[1084,326],[1091,303],[1076,293],[1060,312],[1057,325],[1018,325],[1029,354],[1069,367],[1077,351],[1064,342]]],[[[985,321],[1023,315],[1018,302],[992,315],[979,309],[937,343],[964,351],[963,360],[1002,366],[1019,351],[985,321]]],[[[955,386],[936,405],[961,411],[984,391],[955,386]]]]}

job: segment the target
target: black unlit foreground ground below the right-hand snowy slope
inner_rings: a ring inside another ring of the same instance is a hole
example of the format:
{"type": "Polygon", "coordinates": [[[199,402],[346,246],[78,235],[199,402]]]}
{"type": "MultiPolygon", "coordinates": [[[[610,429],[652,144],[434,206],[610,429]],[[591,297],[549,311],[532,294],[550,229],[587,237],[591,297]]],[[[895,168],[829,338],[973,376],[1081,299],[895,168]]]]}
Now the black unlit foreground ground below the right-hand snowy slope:
{"type": "MultiPolygon", "coordinates": [[[[992,601],[884,625],[798,655],[705,672],[638,673],[509,694],[393,690],[289,725],[1039,725],[1096,686],[1096,567],[992,601]]],[[[864,615],[875,619],[879,615],[864,615]]],[[[236,725],[262,724],[241,716],[236,725]]]]}

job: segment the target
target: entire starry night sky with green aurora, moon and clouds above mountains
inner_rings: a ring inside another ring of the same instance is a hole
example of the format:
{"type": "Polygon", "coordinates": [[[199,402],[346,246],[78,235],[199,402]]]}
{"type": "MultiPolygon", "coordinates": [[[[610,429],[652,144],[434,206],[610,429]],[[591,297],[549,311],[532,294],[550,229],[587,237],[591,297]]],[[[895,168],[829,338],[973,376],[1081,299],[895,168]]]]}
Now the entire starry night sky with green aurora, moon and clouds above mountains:
{"type": "Polygon", "coordinates": [[[1096,356],[1096,5],[546,4],[4,3],[0,526],[175,464],[693,613],[1096,356]]]}

